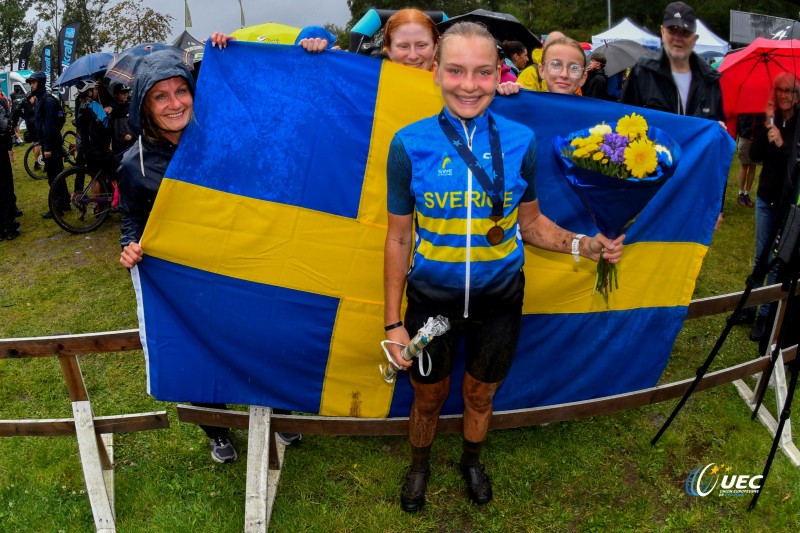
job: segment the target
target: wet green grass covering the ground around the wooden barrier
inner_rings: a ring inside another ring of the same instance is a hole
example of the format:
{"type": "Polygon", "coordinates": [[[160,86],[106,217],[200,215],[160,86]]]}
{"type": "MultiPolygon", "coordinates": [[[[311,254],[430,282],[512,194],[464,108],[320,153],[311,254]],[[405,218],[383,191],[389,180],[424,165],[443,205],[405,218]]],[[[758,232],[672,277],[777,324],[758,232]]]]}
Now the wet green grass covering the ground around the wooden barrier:
{"type": "MultiPolygon", "coordinates": [[[[130,278],[117,263],[119,218],[85,236],[43,220],[47,184],[25,174],[22,154],[16,149],[22,236],[0,242],[0,337],[137,327],[130,278]]],[[[737,170],[734,164],[734,178],[737,170]]],[[[735,205],[734,178],[697,297],[741,290],[749,270],[754,213],[735,205]]],[[[662,382],[691,377],[723,326],[723,316],[687,322],[662,382]]],[[[757,355],[747,333],[746,327],[734,328],[713,369],[757,355]]],[[[200,429],[179,422],[173,404],[145,393],[140,352],[84,357],[81,366],[96,415],[169,412],[168,430],[115,436],[119,530],[240,531],[246,432],[233,434],[241,459],[214,464],[200,429]]],[[[307,435],[298,448],[287,450],[272,529],[798,530],[800,470],[781,453],[754,512],[746,510],[749,498],[695,498],[684,491],[688,473],[709,462],[731,465],[740,474],[763,469],[772,439],[750,421],[733,386],[693,396],[651,447],[650,438],[674,405],[490,433],[485,461],[495,499],[481,508],[468,503],[455,466],[460,437],[441,436],[434,445],[428,505],[417,516],[403,513],[397,501],[408,456],[404,438],[307,435]]],[[[774,400],[766,405],[772,408],[774,400]]],[[[0,361],[0,419],[70,416],[56,360],[0,361]]],[[[0,439],[0,531],[92,530],[74,438],[0,439]]]]}

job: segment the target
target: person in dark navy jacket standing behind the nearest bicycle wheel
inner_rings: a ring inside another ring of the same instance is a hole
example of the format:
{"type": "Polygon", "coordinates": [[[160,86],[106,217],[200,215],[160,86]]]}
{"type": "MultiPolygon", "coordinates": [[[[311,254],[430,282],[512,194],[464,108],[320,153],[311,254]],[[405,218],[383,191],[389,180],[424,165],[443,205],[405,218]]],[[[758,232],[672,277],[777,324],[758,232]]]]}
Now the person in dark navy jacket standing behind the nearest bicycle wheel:
{"type": "MultiPolygon", "coordinates": [[[[64,170],[64,155],[61,148],[61,128],[59,124],[60,103],[55,96],[47,93],[47,75],[42,72],[34,72],[28,78],[31,86],[31,93],[36,96],[36,111],[34,123],[36,126],[36,139],[42,149],[44,156],[44,169],[47,172],[47,181],[53,186],[62,170],[64,170]]],[[[59,202],[57,209],[69,209],[69,193],[67,186],[61,182],[61,190],[56,191],[59,202]]],[[[53,213],[48,209],[42,214],[43,218],[53,218],[53,213]]]]}

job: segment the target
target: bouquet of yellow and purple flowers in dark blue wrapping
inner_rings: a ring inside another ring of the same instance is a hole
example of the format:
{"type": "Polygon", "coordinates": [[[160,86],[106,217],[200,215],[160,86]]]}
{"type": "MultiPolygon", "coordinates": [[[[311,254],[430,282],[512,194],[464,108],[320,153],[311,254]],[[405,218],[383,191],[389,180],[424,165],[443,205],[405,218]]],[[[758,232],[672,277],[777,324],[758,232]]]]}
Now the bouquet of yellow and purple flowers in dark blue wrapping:
{"type": "MultiPolygon", "coordinates": [[[[636,219],[680,159],[677,143],[636,113],[616,124],[576,131],[566,139],[555,137],[553,148],[572,190],[610,239],[619,237],[636,219]]],[[[600,293],[606,308],[614,288],[619,288],[616,266],[601,255],[593,293],[600,293]]]]}

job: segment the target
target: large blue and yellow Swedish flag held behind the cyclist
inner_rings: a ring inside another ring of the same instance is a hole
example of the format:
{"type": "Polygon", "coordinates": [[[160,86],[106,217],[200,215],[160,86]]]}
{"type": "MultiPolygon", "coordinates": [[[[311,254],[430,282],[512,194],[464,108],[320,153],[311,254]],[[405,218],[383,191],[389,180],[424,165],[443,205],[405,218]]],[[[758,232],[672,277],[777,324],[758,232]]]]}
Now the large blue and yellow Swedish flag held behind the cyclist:
{"type": "MultiPolygon", "coordinates": [[[[386,158],[398,129],[441,107],[428,72],[296,46],[207,46],[195,120],[132,271],[148,392],[406,416],[407,375],[387,384],[378,371],[386,158]]],[[[556,163],[554,136],[636,111],[682,151],[627,230],[608,309],[592,294],[593,262],[526,246],[523,330],[495,409],[653,386],[711,241],[733,141],[712,121],[576,96],[524,91],[492,108],[535,131],[542,210],[575,232],[597,229],[556,163]]],[[[462,374],[463,361],[453,383],[462,374]]],[[[463,409],[460,387],[452,389],[444,413],[463,409]]]]}

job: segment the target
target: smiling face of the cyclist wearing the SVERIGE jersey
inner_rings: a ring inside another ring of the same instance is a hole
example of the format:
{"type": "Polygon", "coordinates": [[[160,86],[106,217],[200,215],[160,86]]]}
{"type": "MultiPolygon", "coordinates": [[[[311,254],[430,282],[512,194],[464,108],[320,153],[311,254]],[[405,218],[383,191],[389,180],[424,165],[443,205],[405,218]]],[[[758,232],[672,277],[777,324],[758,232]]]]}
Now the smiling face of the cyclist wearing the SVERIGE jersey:
{"type": "Polygon", "coordinates": [[[483,37],[453,35],[442,41],[433,79],[453,115],[465,120],[483,115],[500,82],[497,47],[483,37]]]}

